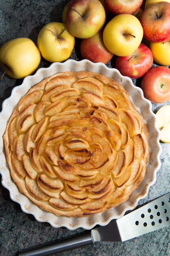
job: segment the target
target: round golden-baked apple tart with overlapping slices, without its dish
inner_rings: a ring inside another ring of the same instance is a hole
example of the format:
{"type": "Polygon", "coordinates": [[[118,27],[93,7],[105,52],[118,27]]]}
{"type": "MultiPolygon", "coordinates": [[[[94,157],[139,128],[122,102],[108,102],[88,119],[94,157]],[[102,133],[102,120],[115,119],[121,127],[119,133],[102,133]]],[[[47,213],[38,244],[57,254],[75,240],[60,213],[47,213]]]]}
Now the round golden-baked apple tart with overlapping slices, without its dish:
{"type": "Polygon", "coordinates": [[[57,216],[88,216],[126,201],[142,182],[148,129],[114,79],[62,72],[33,86],[4,133],[21,193],[57,216]]]}

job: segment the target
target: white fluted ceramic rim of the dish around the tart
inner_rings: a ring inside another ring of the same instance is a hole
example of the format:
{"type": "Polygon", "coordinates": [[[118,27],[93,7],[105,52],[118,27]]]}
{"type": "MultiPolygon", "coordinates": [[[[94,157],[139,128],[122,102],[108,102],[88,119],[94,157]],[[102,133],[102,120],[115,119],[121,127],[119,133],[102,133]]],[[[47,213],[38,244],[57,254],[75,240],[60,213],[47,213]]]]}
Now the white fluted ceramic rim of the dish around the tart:
{"type": "Polygon", "coordinates": [[[27,76],[24,78],[21,85],[13,88],[11,96],[5,99],[2,103],[2,111],[0,112],[0,173],[2,175],[2,185],[9,190],[10,198],[20,204],[21,209],[24,213],[32,214],[35,219],[39,222],[48,222],[52,227],[66,227],[70,230],[76,228],[92,229],[96,225],[105,226],[111,220],[121,218],[124,213],[128,210],[132,210],[137,206],[140,199],[145,198],[148,194],[150,186],[156,182],[156,173],[161,166],[160,155],[161,155],[161,145],[159,143],[160,132],[156,127],[156,117],[152,112],[152,104],[150,101],[144,98],[143,91],[141,88],[133,85],[132,80],[129,77],[122,76],[120,72],[115,68],[109,68],[103,63],[92,63],[86,59],[82,61],[75,61],[69,59],[64,63],[52,63],[50,67],[40,68],[32,76],[27,76]],[[48,213],[40,209],[31,200],[29,200],[25,195],[19,192],[16,184],[13,182],[9,167],[4,154],[4,144],[2,136],[4,134],[7,122],[11,113],[19,100],[28,92],[28,90],[41,80],[48,76],[51,76],[57,72],[65,71],[81,71],[87,70],[91,72],[98,72],[114,78],[116,81],[121,83],[124,88],[129,92],[131,101],[141,112],[148,125],[150,133],[149,144],[150,144],[150,160],[146,168],[146,176],[139,187],[133,191],[129,199],[120,204],[117,207],[109,209],[103,213],[98,213],[94,216],[89,217],[65,217],[65,216],[55,216],[53,213],[48,213]]]}

